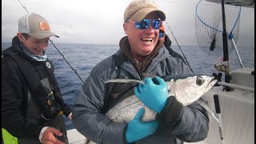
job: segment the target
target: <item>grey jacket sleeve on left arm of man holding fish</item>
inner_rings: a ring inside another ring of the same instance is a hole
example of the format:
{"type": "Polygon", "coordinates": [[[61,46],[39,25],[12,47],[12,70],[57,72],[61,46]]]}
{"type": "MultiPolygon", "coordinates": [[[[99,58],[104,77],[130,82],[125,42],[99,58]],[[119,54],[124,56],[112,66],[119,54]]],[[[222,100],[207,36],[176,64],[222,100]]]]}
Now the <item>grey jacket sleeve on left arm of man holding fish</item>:
{"type": "Polygon", "coordinates": [[[106,96],[106,86],[96,66],[82,85],[73,107],[72,122],[74,127],[90,141],[102,144],[123,143],[123,133],[126,124],[111,122],[102,114],[106,96]]]}

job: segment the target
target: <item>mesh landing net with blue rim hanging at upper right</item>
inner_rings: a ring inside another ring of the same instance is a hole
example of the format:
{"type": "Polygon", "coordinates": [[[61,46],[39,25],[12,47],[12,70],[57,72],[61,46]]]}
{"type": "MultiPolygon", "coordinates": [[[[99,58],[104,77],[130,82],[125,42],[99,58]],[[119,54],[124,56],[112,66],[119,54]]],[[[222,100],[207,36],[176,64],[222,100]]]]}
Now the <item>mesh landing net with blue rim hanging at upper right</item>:
{"type": "MultiPolygon", "coordinates": [[[[195,33],[198,45],[209,55],[223,55],[222,42],[222,3],[220,0],[200,0],[196,6],[195,33]]],[[[234,50],[238,41],[241,6],[225,4],[226,33],[228,35],[228,52],[234,50]]]]}

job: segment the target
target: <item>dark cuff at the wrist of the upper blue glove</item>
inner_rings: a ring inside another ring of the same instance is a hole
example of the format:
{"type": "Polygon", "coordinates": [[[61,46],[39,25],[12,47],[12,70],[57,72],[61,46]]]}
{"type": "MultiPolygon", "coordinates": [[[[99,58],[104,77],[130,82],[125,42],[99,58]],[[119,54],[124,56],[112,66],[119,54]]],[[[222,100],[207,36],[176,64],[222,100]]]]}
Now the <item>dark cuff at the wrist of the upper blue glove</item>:
{"type": "Polygon", "coordinates": [[[160,126],[164,126],[168,130],[171,130],[182,117],[182,111],[182,103],[178,102],[174,96],[170,96],[167,99],[166,106],[159,114],[156,115],[156,119],[160,126]]]}

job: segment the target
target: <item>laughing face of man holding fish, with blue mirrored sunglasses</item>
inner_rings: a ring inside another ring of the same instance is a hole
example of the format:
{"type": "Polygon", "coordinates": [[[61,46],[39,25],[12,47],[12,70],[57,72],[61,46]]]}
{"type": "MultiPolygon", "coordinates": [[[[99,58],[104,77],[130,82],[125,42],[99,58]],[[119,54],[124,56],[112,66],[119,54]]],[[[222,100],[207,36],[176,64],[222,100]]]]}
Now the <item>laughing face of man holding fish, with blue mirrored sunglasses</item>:
{"type": "Polygon", "coordinates": [[[161,25],[162,21],[154,11],[144,19],[130,18],[123,24],[130,42],[130,54],[138,62],[142,62],[154,50],[158,43],[158,29],[161,25]]]}

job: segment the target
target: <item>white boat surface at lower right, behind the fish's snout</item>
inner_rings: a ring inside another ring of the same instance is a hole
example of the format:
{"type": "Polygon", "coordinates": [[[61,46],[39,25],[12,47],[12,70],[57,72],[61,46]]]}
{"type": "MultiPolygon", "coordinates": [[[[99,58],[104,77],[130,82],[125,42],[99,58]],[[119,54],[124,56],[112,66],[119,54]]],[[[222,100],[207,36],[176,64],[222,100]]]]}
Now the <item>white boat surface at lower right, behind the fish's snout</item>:
{"type": "MultiPolygon", "coordinates": [[[[254,89],[254,68],[231,71],[230,83],[254,89]]],[[[222,86],[214,87],[203,97],[214,110],[214,94],[218,94],[221,106],[223,140],[220,139],[218,122],[210,117],[210,130],[206,140],[196,144],[253,144],[254,143],[254,92],[234,89],[223,91],[222,86]]],[[[186,143],[186,142],[185,142],[186,143]]]]}

